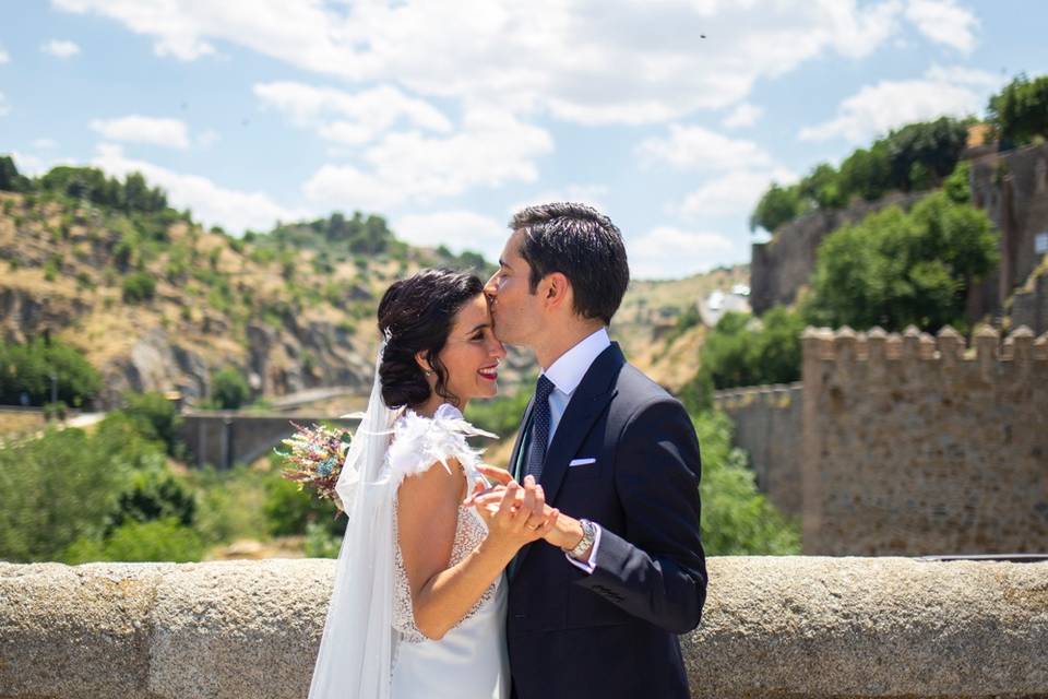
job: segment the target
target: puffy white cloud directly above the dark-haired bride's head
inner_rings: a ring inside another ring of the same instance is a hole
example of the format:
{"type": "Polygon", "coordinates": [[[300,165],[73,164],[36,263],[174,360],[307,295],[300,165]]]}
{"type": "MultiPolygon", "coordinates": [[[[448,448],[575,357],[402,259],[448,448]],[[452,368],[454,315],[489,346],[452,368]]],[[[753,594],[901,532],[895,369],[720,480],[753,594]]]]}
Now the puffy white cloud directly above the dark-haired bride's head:
{"type": "Polygon", "coordinates": [[[452,135],[389,133],[364,152],[367,171],[357,165],[327,164],[306,182],[303,191],[313,202],[343,209],[428,203],[474,187],[535,181],[535,159],[552,150],[545,130],[503,111],[474,107],[452,135]]]}

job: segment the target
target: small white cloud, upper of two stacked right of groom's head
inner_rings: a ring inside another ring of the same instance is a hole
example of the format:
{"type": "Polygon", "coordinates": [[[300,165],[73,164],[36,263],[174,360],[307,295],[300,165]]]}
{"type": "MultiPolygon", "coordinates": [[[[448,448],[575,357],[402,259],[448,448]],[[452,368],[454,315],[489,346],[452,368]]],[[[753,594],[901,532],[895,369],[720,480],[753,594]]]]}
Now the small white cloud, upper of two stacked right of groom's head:
{"type": "Polygon", "coordinates": [[[749,163],[769,166],[772,157],[753,141],[730,139],[702,127],[670,125],[669,135],[645,139],[636,149],[644,165],[668,164],[678,169],[718,170],[749,163]]]}

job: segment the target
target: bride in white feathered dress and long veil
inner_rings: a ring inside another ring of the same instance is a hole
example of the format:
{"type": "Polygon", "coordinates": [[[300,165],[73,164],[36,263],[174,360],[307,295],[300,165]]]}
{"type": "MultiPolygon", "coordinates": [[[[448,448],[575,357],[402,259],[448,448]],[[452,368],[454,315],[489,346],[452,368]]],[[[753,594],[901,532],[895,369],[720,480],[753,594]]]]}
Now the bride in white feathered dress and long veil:
{"type": "Polygon", "coordinates": [[[497,393],[505,356],[483,288],[426,270],[379,304],[385,340],[336,486],[349,521],[310,699],[509,697],[503,571],[558,512],[531,476],[490,511],[464,505],[485,485],[466,437],[493,435],[462,411],[497,393]]]}

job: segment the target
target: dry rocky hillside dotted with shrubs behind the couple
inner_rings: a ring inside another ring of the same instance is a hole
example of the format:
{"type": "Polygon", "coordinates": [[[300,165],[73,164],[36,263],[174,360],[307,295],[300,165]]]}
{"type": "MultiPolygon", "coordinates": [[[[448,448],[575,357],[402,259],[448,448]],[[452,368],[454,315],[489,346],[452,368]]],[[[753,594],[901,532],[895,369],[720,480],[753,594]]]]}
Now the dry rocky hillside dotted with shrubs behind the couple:
{"type": "MultiPolygon", "coordinates": [[[[50,333],[80,350],[103,375],[99,407],[128,390],[196,404],[224,367],[242,372],[255,399],[366,392],[374,308],[392,281],[438,264],[488,271],[473,253],[409,247],[379,216],[336,213],[234,238],[168,208],[136,176],[121,183],[63,167],[19,178],[0,186],[0,339],[50,333]]],[[[656,380],[679,386],[694,372],[702,329],[675,333],[678,319],[747,275],[635,282],[614,334],[656,380]]],[[[534,367],[521,353],[509,365],[512,392],[534,367]]]]}

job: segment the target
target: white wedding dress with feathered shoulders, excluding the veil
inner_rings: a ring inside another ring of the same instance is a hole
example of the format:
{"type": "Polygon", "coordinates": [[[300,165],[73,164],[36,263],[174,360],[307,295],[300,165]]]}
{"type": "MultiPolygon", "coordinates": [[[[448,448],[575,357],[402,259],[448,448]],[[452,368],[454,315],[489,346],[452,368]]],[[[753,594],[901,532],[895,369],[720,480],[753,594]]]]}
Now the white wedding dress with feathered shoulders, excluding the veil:
{"type": "MultiPolygon", "coordinates": [[[[480,474],[476,452],[465,441],[462,413],[443,404],[432,419],[410,411],[394,425],[391,473],[410,475],[455,458],[467,488],[480,474]],[[436,465],[434,465],[436,464],[436,465]]],[[[467,490],[468,491],[468,490],[467,490]]],[[[394,505],[394,541],[396,532],[394,505]]],[[[484,541],[487,526],[473,508],[458,506],[458,523],[450,565],[465,558],[484,541]]],[[[395,552],[393,592],[393,699],[505,699],[509,656],[505,650],[505,576],[500,576],[469,613],[440,640],[427,639],[415,626],[412,593],[400,546],[395,552]]]]}

